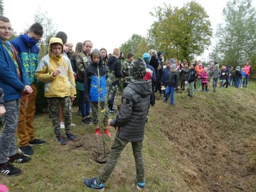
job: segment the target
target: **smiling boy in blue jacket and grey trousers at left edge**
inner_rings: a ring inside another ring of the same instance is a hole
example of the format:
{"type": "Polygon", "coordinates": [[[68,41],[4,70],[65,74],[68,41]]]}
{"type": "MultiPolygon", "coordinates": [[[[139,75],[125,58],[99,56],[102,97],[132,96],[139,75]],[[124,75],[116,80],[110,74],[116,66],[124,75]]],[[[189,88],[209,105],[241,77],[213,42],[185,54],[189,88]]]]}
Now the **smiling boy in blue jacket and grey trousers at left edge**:
{"type": "Polygon", "coordinates": [[[22,95],[31,95],[26,73],[11,43],[13,29],[9,18],[0,16],[0,87],[4,89],[3,129],[0,136],[0,174],[16,176],[21,169],[10,163],[26,163],[31,158],[18,154],[15,146],[15,133],[18,124],[18,112],[22,95]]]}

